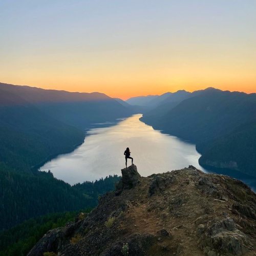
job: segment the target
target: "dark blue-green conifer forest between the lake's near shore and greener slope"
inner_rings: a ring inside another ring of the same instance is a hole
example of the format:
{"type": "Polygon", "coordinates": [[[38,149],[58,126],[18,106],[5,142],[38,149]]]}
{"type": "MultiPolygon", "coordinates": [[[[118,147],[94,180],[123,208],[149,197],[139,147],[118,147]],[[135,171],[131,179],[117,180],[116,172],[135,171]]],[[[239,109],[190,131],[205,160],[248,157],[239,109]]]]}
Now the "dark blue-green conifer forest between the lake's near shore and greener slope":
{"type": "Polygon", "coordinates": [[[95,207],[98,196],[113,190],[118,180],[115,175],[71,186],[54,178],[50,172],[17,173],[2,165],[0,230],[51,212],[95,207]]]}

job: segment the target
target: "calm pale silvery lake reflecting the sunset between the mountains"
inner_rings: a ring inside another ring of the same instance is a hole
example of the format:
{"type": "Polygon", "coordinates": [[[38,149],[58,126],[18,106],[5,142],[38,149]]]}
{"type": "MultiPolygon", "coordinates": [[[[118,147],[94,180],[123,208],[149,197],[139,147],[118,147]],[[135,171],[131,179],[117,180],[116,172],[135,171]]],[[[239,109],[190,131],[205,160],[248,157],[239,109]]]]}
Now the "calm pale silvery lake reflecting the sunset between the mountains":
{"type": "MultiPolygon", "coordinates": [[[[188,165],[204,170],[198,163],[200,154],[195,144],[154,130],[139,120],[141,116],[133,115],[115,125],[95,124],[96,127],[87,131],[83,144],[75,151],[56,157],[40,170],[50,169],[54,177],[70,184],[94,181],[110,174],[121,175],[121,169],[125,167],[123,152],[126,147],[130,147],[141,176],[188,165]]],[[[131,159],[127,165],[131,165],[131,159]]]]}

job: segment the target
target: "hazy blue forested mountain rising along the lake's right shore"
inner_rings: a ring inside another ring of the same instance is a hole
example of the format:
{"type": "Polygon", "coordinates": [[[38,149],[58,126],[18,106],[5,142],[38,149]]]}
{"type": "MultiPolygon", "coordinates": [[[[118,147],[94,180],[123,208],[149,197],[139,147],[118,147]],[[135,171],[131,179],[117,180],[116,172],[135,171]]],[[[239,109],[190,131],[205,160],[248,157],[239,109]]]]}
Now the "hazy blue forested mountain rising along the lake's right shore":
{"type": "Polygon", "coordinates": [[[141,120],[196,143],[199,163],[256,176],[256,94],[209,88],[141,120]],[[161,113],[161,114],[160,114],[161,113]]]}

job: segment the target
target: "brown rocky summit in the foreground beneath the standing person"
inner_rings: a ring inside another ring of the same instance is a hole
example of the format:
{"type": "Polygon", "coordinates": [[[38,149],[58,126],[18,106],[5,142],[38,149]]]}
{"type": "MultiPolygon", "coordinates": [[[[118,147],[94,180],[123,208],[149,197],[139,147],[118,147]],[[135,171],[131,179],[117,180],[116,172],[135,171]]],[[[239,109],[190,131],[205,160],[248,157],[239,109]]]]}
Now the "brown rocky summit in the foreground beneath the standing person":
{"type": "Polygon", "coordinates": [[[243,182],[194,166],[140,177],[122,169],[90,214],[50,230],[44,255],[256,255],[256,196],[243,182]]]}

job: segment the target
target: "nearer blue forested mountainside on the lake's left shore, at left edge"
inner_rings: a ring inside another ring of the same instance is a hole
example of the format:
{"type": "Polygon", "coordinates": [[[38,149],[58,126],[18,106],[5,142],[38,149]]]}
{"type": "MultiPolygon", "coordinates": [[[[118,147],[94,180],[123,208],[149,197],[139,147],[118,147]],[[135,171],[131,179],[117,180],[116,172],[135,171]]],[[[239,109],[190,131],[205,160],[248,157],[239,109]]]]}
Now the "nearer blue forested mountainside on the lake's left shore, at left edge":
{"type": "Polygon", "coordinates": [[[83,139],[76,127],[0,87],[0,161],[13,170],[30,171],[51,156],[73,150],[83,139]]]}

